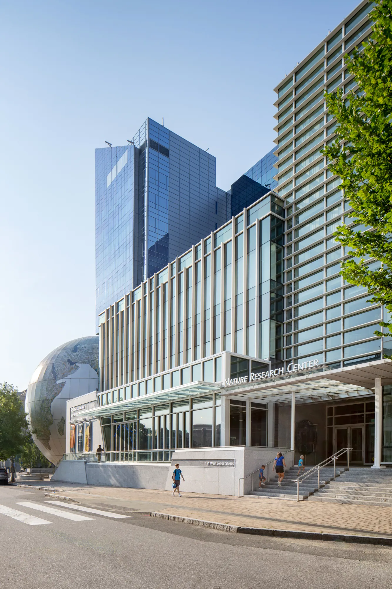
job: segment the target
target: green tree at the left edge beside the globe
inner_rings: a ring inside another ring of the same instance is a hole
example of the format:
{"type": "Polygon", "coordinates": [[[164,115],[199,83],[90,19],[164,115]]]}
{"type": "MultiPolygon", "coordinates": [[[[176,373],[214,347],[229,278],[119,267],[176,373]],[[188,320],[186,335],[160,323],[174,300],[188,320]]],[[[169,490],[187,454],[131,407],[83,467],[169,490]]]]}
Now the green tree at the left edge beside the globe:
{"type": "Polygon", "coordinates": [[[22,451],[28,435],[26,413],[14,386],[0,384],[0,460],[22,451]]]}

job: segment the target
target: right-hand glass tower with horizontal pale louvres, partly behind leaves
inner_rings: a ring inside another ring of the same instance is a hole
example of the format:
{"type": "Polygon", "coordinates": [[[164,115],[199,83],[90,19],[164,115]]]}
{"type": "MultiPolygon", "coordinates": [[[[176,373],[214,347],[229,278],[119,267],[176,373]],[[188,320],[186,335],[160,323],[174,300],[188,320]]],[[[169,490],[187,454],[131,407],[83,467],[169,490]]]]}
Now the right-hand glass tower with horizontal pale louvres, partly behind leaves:
{"type": "Polygon", "coordinates": [[[348,366],[378,359],[382,351],[380,337],[374,336],[380,306],[370,305],[366,290],[344,283],[339,274],[348,249],[332,233],[343,221],[354,223],[345,215],[350,209],[340,178],[332,176],[320,153],[334,141],[336,125],[325,110],[324,91],[356,91],[344,55],[370,35],[373,5],[361,2],[275,88],[275,178],[286,209],[285,358],[290,362],[312,353],[320,363],[348,366]]]}

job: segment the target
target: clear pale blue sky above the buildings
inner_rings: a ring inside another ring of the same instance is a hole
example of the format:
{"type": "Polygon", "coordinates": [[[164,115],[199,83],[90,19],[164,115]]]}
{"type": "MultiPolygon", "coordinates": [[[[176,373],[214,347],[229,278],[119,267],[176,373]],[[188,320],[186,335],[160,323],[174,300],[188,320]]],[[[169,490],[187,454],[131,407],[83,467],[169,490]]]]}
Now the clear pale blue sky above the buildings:
{"type": "Polygon", "coordinates": [[[1,3],[0,382],[94,333],[95,148],[163,116],[227,190],[273,147],[275,85],[357,4],[1,3]]]}

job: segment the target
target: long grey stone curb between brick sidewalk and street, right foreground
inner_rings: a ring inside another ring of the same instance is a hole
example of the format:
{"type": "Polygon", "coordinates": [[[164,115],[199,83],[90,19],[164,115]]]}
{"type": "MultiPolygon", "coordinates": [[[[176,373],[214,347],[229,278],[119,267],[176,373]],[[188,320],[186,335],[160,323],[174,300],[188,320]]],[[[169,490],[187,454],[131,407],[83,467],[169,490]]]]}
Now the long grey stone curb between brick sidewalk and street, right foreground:
{"type": "Polygon", "coordinates": [[[231,532],[234,534],[253,534],[272,538],[298,538],[300,540],[324,540],[329,542],[350,542],[356,544],[374,544],[378,546],[392,546],[392,537],[362,536],[353,534],[328,534],[326,532],[305,532],[297,530],[273,530],[268,528],[246,528],[240,525],[219,524],[204,519],[181,517],[180,515],[162,514],[157,511],[150,512],[151,517],[177,521],[182,524],[198,525],[203,528],[231,532]]]}

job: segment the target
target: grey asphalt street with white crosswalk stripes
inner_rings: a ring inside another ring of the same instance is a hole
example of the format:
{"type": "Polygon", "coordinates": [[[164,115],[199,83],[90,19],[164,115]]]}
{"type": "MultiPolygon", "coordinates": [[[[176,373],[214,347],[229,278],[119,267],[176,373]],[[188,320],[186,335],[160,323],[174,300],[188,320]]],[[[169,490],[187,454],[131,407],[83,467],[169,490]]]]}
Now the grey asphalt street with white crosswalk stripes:
{"type": "Polygon", "coordinates": [[[230,534],[99,495],[78,501],[0,487],[0,587],[390,587],[391,548],[230,534]]]}

